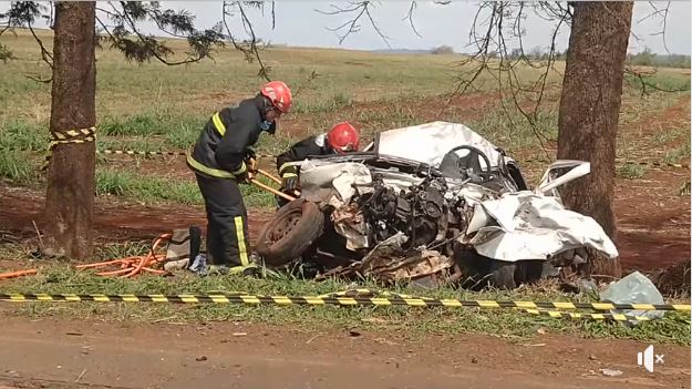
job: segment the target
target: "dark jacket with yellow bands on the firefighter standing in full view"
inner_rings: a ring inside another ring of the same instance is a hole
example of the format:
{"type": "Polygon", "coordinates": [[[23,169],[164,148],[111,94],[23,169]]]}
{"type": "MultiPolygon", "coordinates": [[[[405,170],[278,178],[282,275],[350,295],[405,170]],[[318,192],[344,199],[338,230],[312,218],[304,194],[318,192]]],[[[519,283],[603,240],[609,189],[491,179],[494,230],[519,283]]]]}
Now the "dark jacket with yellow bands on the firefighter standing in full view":
{"type": "MultiPolygon", "coordinates": [[[[215,113],[205,125],[187,165],[195,172],[219,178],[235,178],[247,172],[245,158],[261,133],[264,96],[257,95],[215,113]]],[[[276,131],[271,124],[269,133],[276,131]]]]}

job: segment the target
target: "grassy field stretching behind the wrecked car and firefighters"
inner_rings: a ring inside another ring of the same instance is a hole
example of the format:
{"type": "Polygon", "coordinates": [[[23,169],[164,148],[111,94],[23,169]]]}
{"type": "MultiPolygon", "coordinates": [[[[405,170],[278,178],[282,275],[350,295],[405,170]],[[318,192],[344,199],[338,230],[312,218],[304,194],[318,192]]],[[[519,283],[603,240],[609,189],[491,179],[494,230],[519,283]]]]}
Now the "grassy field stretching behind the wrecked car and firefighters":
{"type": "MultiPolygon", "coordinates": [[[[41,37],[50,50],[52,41],[49,32],[42,32],[41,37]]],[[[47,78],[49,69],[40,60],[32,38],[25,33],[20,32],[17,37],[4,34],[2,43],[14,52],[17,60],[0,64],[0,150],[42,151],[47,146],[50,85],[32,81],[27,75],[47,78]]],[[[180,42],[173,42],[172,45],[179,52],[185,49],[180,42]]],[[[214,61],[184,66],[154,62],[128,64],[117,52],[109,50],[99,50],[96,55],[100,150],[185,150],[195,142],[211,113],[255,94],[262,83],[257,76],[257,64],[245,62],[240,53],[231,50],[218,52],[214,61]]],[[[486,90],[477,93],[481,98],[494,96],[487,104],[479,105],[472,96],[446,106],[446,99],[438,98],[454,90],[455,74],[459,71],[455,65],[461,60],[459,55],[395,55],[287,48],[267,50],[262,55],[272,69],[272,76],[285,80],[299,92],[295,111],[280,124],[278,135],[260,139],[260,152],[275,154],[297,141],[298,134],[324,131],[341,120],[357,122],[365,135],[396,126],[446,120],[465,123],[510,153],[524,153],[526,160],[545,158],[534,130],[520,114],[512,109],[508,113],[502,109],[498,95],[493,94],[496,85],[490,82],[489,74],[484,74],[479,83],[486,90]],[[312,72],[319,74],[314,80],[310,80],[312,72]]],[[[558,64],[558,69],[561,66],[558,64]]],[[[521,73],[526,82],[538,76],[537,71],[528,68],[521,73]]],[[[559,74],[551,74],[550,82],[559,82],[559,74]]],[[[669,89],[689,91],[690,86],[689,74],[680,70],[663,70],[653,82],[669,89]]],[[[621,123],[627,125],[660,112],[685,94],[689,92],[658,92],[640,99],[639,90],[632,86],[626,92],[621,123]]],[[[557,136],[558,98],[559,89],[551,86],[548,103],[538,120],[539,131],[548,140],[557,136]]],[[[510,105],[508,101],[505,104],[510,105]]],[[[678,135],[685,136],[685,133],[669,136],[680,140],[678,135]]],[[[622,144],[619,153],[628,157],[628,145],[622,144]]],[[[671,150],[664,162],[674,163],[685,154],[689,150],[671,150]]],[[[0,155],[0,176],[14,184],[41,185],[37,171],[41,156],[37,153],[3,152],[0,155]]],[[[527,163],[529,177],[533,167],[544,166],[545,163],[536,166],[527,163]]],[[[638,177],[643,170],[645,167],[622,166],[619,174],[638,177]]],[[[140,170],[140,173],[114,168],[102,157],[97,170],[97,194],[199,204],[200,197],[195,193],[192,174],[188,177],[189,185],[180,185],[179,180],[172,180],[166,174],[152,177],[146,168],[140,170]]],[[[250,206],[270,204],[270,197],[262,193],[249,199],[250,206]]]]}

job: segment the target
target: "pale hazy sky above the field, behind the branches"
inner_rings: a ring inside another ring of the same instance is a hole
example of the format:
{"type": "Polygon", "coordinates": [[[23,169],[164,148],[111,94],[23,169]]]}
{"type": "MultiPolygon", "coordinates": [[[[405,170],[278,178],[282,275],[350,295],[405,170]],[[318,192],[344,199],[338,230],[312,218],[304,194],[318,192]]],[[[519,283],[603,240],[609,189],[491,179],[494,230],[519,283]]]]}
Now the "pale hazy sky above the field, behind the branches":
{"type": "MultiPolygon", "coordinates": [[[[662,8],[665,2],[653,2],[662,8]]],[[[185,9],[196,14],[196,25],[210,27],[220,18],[221,2],[219,1],[164,1],[164,7],[176,10],[185,9]]],[[[331,4],[345,8],[343,1],[298,1],[279,0],[276,2],[276,28],[271,29],[269,7],[261,14],[256,11],[249,14],[255,22],[255,32],[265,41],[272,43],[286,43],[289,45],[344,48],[359,50],[388,49],[388,44],[374,31],[366,20],[363,20],[361,30],[349,35],[343,43],[339,43],[337,32],[328,28],[338,27],[352,18],[352,16],[337,14],[327,16],[316,10],[329,11],[331,4]]],[[[414,10],[414,24],[422,37],[417,37],[411,28],[406,14],[411,7],[410,1],[381,1],[375,2],[372,16],[382,32],[390,38],[389,44],[396,49],[425,50],[438,45],[451,45],[456,52],[469,52],[469,30],[473,24],[477,2],[453,1],[447,6],[435,4],[432,1],[417,1],[414,10]],[[403,20],[402,20],[403,19],[403,20]]],[[[630,37],[631,52],[639,52],[649,47],[653,52],[667,53],[665,47],[671,53],[690,54],[691,49],[691,7],[690,1],[673,1],[665,20],[667,33],[665,45],[662,35],[655,35],[662,30],[663,18],[648,18],[641,20],[653,11],[648,1],[634,3],[632,18],[632,35],[630,37]]],[[[240,24],[240,19],[234,20],[234,32],[239,37],[247,37],[240,24]]],[[[531,16],[526,22],[525,48],[543,47],[550,43],[550,34],[554,23],[531,16]]],[[[566,49],[569,40],[569,30],[562,28],[557,41],[559,49],[566,49]]]]}

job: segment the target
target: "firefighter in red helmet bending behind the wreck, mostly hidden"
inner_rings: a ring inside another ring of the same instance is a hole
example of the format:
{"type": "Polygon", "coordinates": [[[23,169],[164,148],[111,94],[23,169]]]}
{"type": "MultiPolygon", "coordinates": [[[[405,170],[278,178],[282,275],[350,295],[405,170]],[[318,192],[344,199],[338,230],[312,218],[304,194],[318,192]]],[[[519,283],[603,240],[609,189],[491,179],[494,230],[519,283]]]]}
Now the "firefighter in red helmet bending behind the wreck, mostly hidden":
{"type": "MultiPolygon", "coordinates": [[[[281,192],[296,196],[300,188],[299,168],[292,162],[303,161],[308,156],[344,154],[357,152],[360,144],[359,131],[349,122],[337,123],[327,133],[309,136],[277,156],[277,170],[281,176],[281,192]]],[[[288,203],[276,196],[279,206],[288,203]]]]}

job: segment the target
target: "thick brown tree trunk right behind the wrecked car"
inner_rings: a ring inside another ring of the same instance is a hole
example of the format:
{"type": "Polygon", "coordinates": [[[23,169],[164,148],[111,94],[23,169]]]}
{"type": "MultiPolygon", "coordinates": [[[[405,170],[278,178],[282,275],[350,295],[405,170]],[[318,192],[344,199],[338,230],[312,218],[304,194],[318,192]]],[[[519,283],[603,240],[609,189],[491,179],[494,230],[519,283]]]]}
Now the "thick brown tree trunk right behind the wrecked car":
{"type": "MultiPolygon", "coordinates": [[[[614,240],[612,211],[618,115],[632,2],[572,2],[574,18],[558,119],[558,157],[591,163],[566,185],[565,205],[593,217],[614,240]]],[[[620,262],[597,258],[592,274],[620,276],[620,262]]]]}

